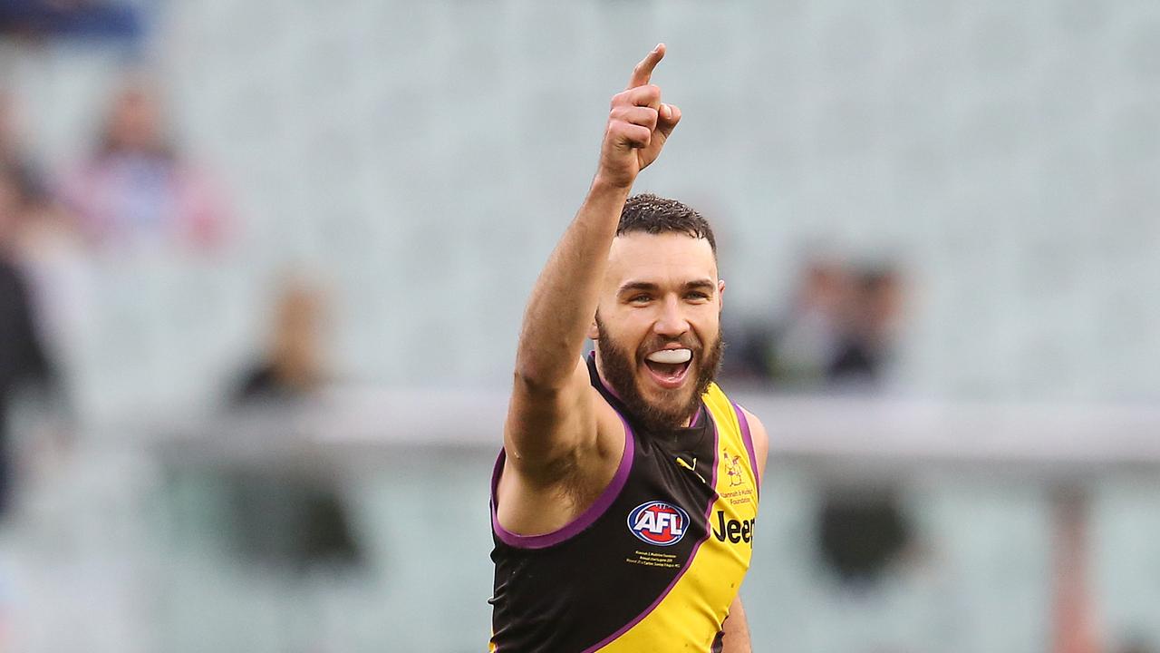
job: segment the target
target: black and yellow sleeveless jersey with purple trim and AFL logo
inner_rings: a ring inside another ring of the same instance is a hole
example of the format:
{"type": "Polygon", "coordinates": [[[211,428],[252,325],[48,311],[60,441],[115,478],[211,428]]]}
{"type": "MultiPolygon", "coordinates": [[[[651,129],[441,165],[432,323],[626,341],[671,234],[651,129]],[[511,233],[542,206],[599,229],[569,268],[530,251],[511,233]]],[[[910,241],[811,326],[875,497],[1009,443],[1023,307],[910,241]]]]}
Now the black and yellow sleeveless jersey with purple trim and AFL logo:
{"type": "Polygon", "coordinates": [[[624,422],[611,482],[583,514],[548,534],[519,536],[496,518],[491,651],[717,652],[749,567],[759,479],[741,409],[715,385],[689,428],[646,432],[604,387],[624,422]]]}

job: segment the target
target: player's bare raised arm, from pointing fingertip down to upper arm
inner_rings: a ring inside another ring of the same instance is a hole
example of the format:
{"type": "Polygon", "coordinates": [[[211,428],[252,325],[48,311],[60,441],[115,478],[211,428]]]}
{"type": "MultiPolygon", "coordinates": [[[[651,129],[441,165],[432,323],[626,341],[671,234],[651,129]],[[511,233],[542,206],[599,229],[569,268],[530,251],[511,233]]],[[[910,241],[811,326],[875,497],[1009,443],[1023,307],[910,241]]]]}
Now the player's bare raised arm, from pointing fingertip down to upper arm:
{"type": "Polygon", "coordinates": [[[681,119],[650,84],[664,56],[664,44],[653,49],[612,98],[592,187],[528,302],[503,436],[508,460],[528,476],[551,480],[561,460],[595,443],[594,397],[580,354],[624,201],[681,119]]]}

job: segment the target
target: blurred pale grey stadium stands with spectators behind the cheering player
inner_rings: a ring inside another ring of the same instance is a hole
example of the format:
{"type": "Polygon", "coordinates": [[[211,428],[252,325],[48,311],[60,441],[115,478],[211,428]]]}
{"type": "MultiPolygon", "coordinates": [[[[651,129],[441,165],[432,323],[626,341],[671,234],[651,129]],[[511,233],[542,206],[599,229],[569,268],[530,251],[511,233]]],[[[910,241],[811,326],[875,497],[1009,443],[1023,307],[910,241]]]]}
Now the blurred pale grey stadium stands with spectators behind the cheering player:
{"type": "Polygon", "coordinates": [[[523,302],[659,41],[684,120],[638,189],[716,224],[771,437],[754,650],[1160,647],[1160,3],[0,30],[0,650],[484,650],[523,302]]]}

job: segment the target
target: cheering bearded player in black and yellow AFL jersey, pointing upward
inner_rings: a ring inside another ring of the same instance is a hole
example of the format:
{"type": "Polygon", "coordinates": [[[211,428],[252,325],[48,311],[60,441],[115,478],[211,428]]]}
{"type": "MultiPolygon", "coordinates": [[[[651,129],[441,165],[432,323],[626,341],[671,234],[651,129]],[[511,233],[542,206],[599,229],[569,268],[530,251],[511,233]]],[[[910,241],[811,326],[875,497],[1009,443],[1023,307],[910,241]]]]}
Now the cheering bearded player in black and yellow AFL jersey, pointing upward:
{"type": "Polygon", "coordinates": [[[725,282],[709,224],[629,199],[681,120],[648,82],[664,56],[612,98],[524,316],[492,480],[492,651],[749,651],[737,591],[766,431],[712,383],[725,282]]]}

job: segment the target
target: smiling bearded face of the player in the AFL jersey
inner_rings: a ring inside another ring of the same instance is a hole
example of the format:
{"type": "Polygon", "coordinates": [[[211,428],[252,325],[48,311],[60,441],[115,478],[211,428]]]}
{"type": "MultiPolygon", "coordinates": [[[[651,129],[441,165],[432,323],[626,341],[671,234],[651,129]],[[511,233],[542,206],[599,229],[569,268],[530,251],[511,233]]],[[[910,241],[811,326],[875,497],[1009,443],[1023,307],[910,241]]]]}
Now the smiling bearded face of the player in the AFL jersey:
{"type": "Polygon", "coordinates": [[[601,375],[648,426],[683,425],[713,380],[724,289],[704,238],[632,232],[612,241],[589,336],[601,375]]]}

